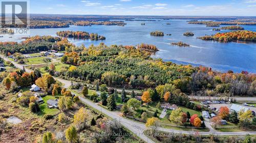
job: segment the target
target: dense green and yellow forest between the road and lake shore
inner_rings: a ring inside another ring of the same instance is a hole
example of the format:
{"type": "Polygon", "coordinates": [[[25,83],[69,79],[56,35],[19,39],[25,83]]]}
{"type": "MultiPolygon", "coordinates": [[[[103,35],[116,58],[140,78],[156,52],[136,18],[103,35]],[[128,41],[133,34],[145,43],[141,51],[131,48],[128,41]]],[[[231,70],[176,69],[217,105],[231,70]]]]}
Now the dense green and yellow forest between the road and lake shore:
{"type": "Polygon", "coordinates": [[[186,94],[203,91],[207,95],[256,95],[255,74],[219,73],[202,66],[163,62],[150,55],[150,52],[133,46],[91,45],[78,53],[66,53],[61,61],[77,67],[61,71],[60,76],[119,88],[141,90],[174,86],[186,94]]]}

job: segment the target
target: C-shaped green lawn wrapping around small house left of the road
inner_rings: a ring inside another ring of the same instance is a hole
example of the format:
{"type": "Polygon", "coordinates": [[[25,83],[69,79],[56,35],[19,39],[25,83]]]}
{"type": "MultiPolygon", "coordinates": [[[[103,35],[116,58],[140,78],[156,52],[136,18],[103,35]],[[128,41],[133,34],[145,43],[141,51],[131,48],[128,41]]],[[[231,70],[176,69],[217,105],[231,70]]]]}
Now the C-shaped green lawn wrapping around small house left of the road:
{"type": "Polygon", "coordinates": [[[55,115],[56,113],[59,112],[58,109],[56,108],[52,108],[52,109],[49,109],[47,106],[47,100],[49,99],[56,99],[54,96],[51,96],[51,95],[47,95],[45,97],[42,97],[42,99],[45,101],[44,103],[40,104],[39,107],[41,109],[41,115],[45,115],[45,114],[50,114],[50,115],[55,115]]]}

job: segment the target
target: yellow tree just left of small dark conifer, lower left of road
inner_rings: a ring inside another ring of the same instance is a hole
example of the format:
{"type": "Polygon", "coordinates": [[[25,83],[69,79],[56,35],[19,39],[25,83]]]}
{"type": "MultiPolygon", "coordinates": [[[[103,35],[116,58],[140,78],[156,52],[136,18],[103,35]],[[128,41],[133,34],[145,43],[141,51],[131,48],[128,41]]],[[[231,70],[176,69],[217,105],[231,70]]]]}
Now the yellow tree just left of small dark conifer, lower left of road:
{"type": "Polygon", "coordinates": [[[82,129],[84,126],[86,126],[87,120],[88,113],[86,109],[81,107],[74,115],[74,124],[77,126],[77,128],[82,129]]]}

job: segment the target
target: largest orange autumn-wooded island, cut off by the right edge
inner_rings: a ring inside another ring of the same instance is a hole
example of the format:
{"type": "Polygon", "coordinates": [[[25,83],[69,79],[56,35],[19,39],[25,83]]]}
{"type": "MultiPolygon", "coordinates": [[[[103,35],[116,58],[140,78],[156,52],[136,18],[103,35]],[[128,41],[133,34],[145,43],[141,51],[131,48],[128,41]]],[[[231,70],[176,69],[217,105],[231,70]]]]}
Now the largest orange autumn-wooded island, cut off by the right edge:
{"type": "Polygon", "coordinates": [[[202,40],[214,40],[220,42],[231,42],[231,41],[256,41],[256,32],[252,31],[233,31],[227,33],[217,33],[213,36],[199,37],[202,40]]]}

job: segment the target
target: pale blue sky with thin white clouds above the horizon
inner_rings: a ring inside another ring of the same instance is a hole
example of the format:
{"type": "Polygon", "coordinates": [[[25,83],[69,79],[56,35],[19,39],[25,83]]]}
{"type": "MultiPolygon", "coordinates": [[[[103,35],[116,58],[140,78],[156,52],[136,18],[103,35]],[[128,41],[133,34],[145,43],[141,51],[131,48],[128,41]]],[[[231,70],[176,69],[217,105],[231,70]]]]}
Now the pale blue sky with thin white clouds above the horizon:
{"type": "Polygon", "coordinates": [[[30,13],[256,16],[256,0],[30,0],[30,13]]]}

